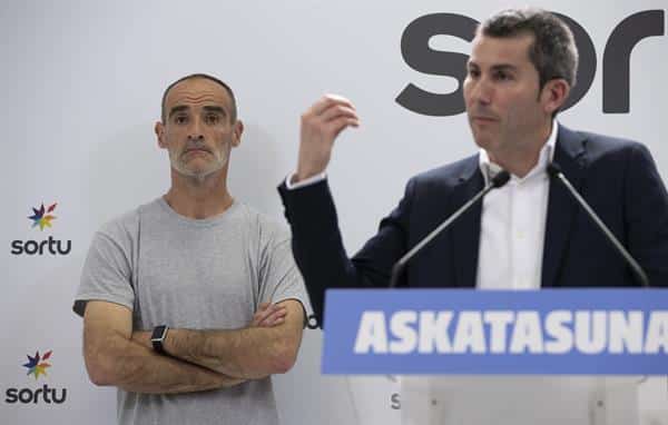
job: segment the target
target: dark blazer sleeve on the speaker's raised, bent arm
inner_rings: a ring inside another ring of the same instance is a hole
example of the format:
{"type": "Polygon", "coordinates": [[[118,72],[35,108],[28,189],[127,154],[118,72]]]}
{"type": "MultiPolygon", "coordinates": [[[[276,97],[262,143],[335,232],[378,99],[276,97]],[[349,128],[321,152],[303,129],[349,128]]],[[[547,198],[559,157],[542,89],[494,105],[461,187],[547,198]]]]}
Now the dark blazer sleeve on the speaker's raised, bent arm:
{"type": "Polygon", "coordinates": [[[343,247],[327,180],[292,190],[285,182],[278,186],[292,228],[293,255],[323,327],[326,289],[389,285],[392,266],[406,251],[413,186],[412,180],[409,181],[399,206],[381,221],[379,233],[353,258],[343,247]]]}

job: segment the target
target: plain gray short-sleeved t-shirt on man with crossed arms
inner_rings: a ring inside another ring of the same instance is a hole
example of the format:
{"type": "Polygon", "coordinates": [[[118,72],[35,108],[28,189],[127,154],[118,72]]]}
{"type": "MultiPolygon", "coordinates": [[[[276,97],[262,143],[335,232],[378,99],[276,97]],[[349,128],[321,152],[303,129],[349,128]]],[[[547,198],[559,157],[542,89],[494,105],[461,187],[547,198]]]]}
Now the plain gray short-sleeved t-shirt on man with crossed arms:
{"type": "MultiPolygon", "coordinates": [[[[75,312],[86,300],[132,310],[134,329],[248,326],[257,306],[305,306],[289,233],[235,201],[207,219],[176,214],[158,198],[105,225],[94,237],[75,312]]],[[[148,395],[118,391],[120,424],[277,424],[271,378],[210,392],[148,395]]]]}

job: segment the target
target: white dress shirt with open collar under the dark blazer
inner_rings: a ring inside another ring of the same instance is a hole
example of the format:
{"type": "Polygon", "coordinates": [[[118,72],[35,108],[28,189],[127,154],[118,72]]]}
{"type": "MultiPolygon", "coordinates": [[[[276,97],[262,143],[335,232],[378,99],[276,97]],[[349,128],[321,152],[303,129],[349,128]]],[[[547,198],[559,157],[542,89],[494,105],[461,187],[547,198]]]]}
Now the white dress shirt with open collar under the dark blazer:
{"type": "MultiPolygon", "coordinates": [[[[558,127],[553,120],[538,164],[527,176],[519,178],[511,175],[505,186],[490,191],[482,200],[475,279],[480,289],[540,288],[550,189],[547,167],[554,156],[558,127]]],[[[479,160],[485,182],[501,170],[490,161],[484,149],[480,150],[479,160]]],[[[326,178],[326,174],[322,172],[293,184],[294,175],[285,179],[288,190],[326,178]]]]}

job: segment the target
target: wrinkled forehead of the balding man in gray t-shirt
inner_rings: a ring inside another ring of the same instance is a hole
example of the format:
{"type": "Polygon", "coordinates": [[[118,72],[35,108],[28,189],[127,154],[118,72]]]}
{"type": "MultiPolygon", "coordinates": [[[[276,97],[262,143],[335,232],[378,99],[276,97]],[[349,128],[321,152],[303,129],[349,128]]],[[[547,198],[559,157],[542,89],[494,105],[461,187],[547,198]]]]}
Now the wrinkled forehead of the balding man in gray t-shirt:
{"type": "Polygon", "coordinates": [[[174,86],[165,98],[166,112],[174,107],[217,106],[229,112],[232,101],[227,91],[215,81],[205,78],[193,78],[174,86]]]}

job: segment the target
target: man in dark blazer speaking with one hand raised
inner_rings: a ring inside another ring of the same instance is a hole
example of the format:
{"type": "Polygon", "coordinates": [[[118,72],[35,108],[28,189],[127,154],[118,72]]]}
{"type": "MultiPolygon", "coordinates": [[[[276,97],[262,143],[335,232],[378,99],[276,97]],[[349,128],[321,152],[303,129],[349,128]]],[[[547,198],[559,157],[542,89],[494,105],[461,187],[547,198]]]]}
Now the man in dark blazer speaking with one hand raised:
{"type": "Polygon", "coordinates": [[[354,106],[326,96],[302,116],[297,172],[279,194],[293,253],[322,323],[327,288],[386,287],[392,266],[501,169],[490,192],[413,258],[409,287],[633,286],[635,276],[547,166],[557,162],[638,260],[668,286],[668,195],[647,148],[554,120],[574,85],[570,30],[549,12],[509,10],[477,30],[463,92],[478,155],[413,177],[379,233],[350,259],[324,170],[354,106]],[[515,231],[524,228],[523,231],[515,231]],[[533,237],[533,239],[531,239],[533,237]]]}

